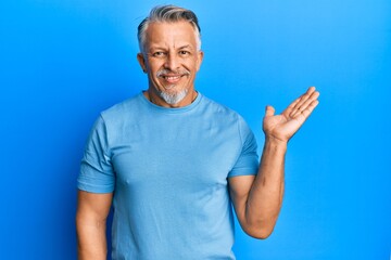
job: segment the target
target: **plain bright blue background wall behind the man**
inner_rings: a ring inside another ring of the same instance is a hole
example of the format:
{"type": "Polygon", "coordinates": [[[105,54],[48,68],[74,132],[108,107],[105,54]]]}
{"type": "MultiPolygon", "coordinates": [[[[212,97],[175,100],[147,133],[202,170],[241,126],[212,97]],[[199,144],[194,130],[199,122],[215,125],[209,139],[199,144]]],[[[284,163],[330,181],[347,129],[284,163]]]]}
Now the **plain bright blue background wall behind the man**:
{"type": "MultiPolygon", "coordinates": [[[[159,1],[0,2],[1,259],[76,259],[76,178],[99,112],[147,88],[136,28],[159,1]]],[[[389,259],[391,1],[173,1],[199,15],[197,87],[256,133],[308,86],[266,240],[238,260],[389,259]]],[[[260,147],[260,150],[261,150],[260,147]]]]}

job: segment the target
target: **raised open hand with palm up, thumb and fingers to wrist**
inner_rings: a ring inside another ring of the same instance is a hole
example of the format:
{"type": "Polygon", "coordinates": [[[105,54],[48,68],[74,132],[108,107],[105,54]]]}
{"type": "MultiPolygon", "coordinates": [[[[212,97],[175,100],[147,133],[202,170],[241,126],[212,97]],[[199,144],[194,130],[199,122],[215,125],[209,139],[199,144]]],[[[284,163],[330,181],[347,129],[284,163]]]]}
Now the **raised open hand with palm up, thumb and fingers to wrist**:
{"type": "Polygon", "coordinates": [[[266,139],[272,138],[287,143],[318,105],[318,96],[319,92],[315,91],[315,87],[311,87],[303,95],[293,101],[281,115],[274,115],[275,108],[266,106],[263,121],[266,139]]]}

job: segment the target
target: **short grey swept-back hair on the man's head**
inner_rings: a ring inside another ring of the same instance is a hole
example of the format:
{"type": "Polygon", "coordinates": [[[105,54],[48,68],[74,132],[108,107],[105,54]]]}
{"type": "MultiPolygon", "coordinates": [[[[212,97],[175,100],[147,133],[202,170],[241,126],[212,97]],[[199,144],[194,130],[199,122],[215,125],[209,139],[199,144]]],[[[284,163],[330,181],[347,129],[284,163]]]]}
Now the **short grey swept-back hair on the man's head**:
{"type": "Polygon", "coordinates": [[[201,50],[201,28],[197,15],[192,11],[184,8],[175,5],[161,5],[153,8],[149,16],[147,16],[138,26],[137,38],[140,51],[144,51],[146,31],[151,23],[175,23],[181,21],[189,22],[193,27],[197,39],[197,49],[201,50]]]}

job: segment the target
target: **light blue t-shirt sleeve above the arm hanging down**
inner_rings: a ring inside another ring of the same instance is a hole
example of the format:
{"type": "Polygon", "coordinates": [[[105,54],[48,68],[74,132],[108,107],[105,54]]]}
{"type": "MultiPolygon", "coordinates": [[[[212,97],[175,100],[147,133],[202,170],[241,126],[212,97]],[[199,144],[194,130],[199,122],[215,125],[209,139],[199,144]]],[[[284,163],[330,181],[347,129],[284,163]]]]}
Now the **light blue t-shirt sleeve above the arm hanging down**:
{"type": "Polygon", "coordinates": [[[100,116],[87,141],[77,187],[91,193],[111,193],[114,185],[115,176],[109,156],[106,126],[100,116]]]}

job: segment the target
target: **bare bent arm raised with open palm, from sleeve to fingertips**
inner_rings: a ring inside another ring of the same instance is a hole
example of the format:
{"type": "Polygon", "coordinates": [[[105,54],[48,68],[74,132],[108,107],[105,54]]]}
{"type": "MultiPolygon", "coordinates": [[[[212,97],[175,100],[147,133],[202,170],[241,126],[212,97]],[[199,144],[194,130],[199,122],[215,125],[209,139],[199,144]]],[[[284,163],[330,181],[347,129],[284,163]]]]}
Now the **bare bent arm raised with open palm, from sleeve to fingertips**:
{"type": "Polygon", "coordinates": [[[266,107],[263,122],[265,145],[256,177],[229,179],[230,196],[245,233],[266,238],[276,224],[283,196],[283,170],[287,144],[317,106],[319,93],[310,88],[281,115],[266,107]]]}

